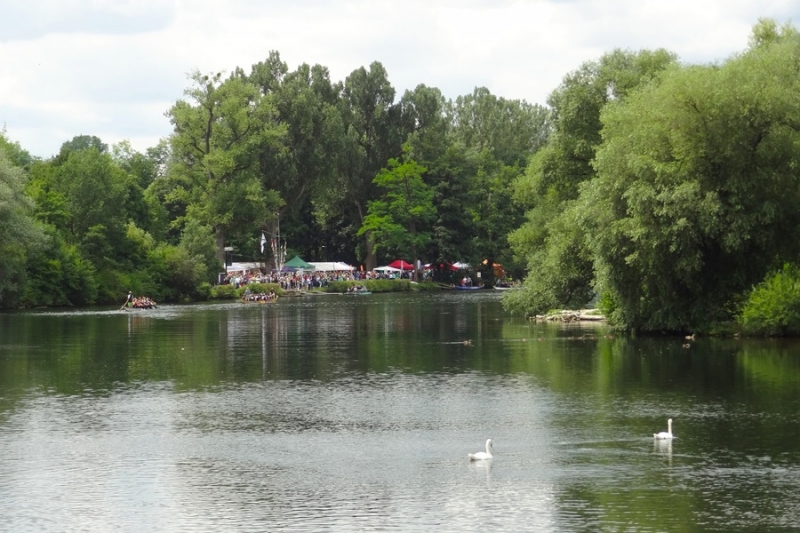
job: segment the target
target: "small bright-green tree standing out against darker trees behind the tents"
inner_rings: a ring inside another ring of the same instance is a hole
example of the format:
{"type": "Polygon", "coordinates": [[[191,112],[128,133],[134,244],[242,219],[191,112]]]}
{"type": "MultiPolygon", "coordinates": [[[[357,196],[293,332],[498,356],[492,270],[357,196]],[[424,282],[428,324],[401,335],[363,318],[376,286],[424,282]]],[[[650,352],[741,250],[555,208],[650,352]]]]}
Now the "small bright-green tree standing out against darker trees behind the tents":
{"type": "Polygon", "coordinates": [[[384,194],[369,204],[369,213],[359,235],[370,233],[376,251],[386,249],[401,256],[410,254],[414,260],[414,278],[417,279],[419,251],[431,239],[426,226],[435,217],[433,191],[425,185],[422,174],[425,167],[414,161],[406,152],[402,161],[390,159],[388,168],[375,176],[384,194]]]}

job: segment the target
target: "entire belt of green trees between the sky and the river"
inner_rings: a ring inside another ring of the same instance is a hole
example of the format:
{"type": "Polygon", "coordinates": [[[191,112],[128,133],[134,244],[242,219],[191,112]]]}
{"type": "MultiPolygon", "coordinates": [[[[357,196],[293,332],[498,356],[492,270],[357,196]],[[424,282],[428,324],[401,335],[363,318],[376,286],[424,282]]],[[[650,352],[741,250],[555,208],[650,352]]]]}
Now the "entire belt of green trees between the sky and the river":
{"type": "Polygon", "coordinates": [[[0,306],[202,298],[226,259],[271,268],[267,235],[366,269],[501,263],[525,314],[597,302],[640,331],[796,331],[769,305],[793,309],[775,294],[800,262],[799,59],[797,30],[764,19],[717,64],[610,51],[540,106],[398,98],[378,61],[333,81],[271,52],[191,73],[143,153],[77,135],[42,160],[3,130],[0,306]]]}

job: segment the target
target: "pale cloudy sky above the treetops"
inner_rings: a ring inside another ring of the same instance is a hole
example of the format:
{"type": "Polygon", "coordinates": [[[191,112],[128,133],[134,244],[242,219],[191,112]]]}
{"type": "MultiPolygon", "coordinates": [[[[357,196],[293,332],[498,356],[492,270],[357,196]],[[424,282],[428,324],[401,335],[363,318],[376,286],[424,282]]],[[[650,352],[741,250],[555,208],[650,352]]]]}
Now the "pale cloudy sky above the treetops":
{"type": "Polygon", "coordinates": [[[0,0],[0,131],[48,158],[76,135],[138,151],[192,71],[250,72],[270,51],[344,81],[383,64],[396,100],[486,87],[545,105],[566,74],[616,48],[683,63],[742,52],[759,18],[799,25],[797,0],[0,0]]]}

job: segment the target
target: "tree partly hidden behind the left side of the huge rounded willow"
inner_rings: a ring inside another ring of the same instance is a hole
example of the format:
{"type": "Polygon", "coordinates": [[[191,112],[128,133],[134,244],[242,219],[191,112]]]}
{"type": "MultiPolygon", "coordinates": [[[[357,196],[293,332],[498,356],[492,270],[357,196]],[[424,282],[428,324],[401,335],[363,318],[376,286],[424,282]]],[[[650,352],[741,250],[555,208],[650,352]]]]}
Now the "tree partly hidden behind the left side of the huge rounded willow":
{"type": "Polygon", "coordinates": [[[591,299],[593,255],[574,225],[583,224],[575,212],[583,208],[576,203],[582,184],[596,177],[592,161],[601,142],[601,111],[655,83],[674,62],[664,50],[615,50],[581,65],[550,95],[552,133],[514,183],[514,198],[527,213],[509,243],[528,275],[526,290],[506,299],[508,309],[537,314],[591,299]]]}

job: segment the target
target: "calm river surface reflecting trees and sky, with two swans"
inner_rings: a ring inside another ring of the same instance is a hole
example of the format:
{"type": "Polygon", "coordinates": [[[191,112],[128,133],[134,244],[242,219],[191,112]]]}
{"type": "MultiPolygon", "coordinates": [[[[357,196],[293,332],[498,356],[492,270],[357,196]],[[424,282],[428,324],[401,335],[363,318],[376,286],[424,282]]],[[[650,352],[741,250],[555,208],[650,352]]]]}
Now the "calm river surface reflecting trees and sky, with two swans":
{"type": "Polygon", "coordinates": [[[491,291],[0,314],[0,530],[797,531],[800,345],[683,342],[491,291]]]}

